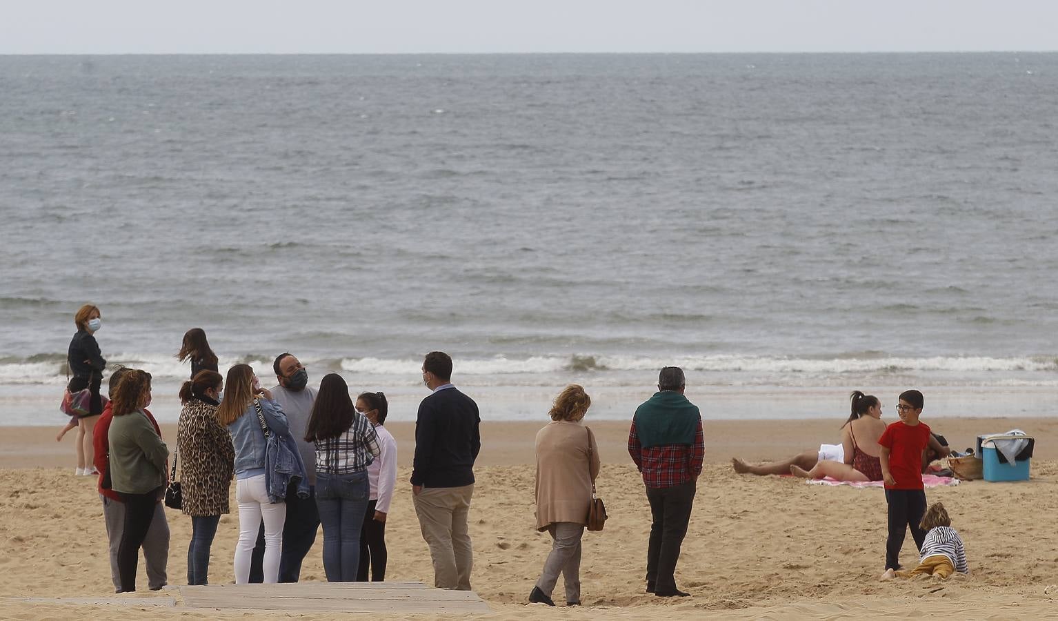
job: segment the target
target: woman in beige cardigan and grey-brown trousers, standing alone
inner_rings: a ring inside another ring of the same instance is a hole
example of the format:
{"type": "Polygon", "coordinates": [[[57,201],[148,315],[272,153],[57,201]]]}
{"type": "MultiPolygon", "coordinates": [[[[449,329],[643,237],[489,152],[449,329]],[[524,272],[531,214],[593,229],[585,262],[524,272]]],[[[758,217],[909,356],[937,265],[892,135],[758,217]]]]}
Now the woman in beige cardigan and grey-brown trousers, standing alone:
{"type": "Polygon", "coordinates": [[[581,536],[599,476],[595,436],[581,424],[590,405],[584,388],[566,386],[551,406],[551,422],[536,434],[536,529],[548,531],[554,543],[529,593],[532,604],[554,605],[559,573],[566,582],[566,605],[581,603],[581,536]]]}

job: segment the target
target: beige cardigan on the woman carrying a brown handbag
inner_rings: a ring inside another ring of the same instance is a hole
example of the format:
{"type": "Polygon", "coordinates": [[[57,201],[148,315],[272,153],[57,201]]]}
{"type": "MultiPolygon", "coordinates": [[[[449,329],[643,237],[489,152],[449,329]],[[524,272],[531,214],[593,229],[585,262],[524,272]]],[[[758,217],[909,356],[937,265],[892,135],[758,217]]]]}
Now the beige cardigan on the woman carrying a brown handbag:
{"type": "Polygon", "coordinates": [[[551,421],[536,434],[537,530],[547,530],[555,522],[587,523],[591,482],[599,476],[599,464],[595,435],[580,422],[551,421]]]}

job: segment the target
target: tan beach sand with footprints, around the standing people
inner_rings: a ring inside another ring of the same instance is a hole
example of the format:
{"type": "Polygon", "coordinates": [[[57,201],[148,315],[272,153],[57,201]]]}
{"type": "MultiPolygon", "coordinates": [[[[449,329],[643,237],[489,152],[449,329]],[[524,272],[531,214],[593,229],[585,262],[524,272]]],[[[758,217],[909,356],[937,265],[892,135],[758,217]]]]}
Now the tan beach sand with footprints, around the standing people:
{"type": "MultiPolygon", "coordinates": [[[[924,419],[927,420],[928,419],[924,419]]],[[[1058,420],[944,419],[936,431],[965,448],[978,433],[1020,427],[1037,438],[1032,480],[969,481],[927,490],[942,500],[966,542],[971,576],[947,581],[877,582],[886,541],[880,489],[809,486],[790,477],[737,475],[732,455],[782,457],[834,441],[840,420],[706,423],[707,461],[677,582],[694,597],[660,600],[643,592],[650,512],[642,483],[623,446],[626,423],[590,423],[604,460],[599,493],[610,518],[586,533],[584,606],[571,610],[524,602],[550,548],[533,530],[532,440],[537,423],[482,424],[482,452],[471,509],[475,590],[492,613],[482,619],[853,619],[945,615],[968,619],[1056,618],[1058,596],[1058,420]]],[[[114,596],[103,513],[94,477],[72,474],[72,441],[56,430],[0,430],[0,618],[234,619],[244,611],[21,602],[17,598],[177,597],[176,590],[114,596]]],[[[393,425],[400,440],[399,480],[406,481],[411,424],[393,425]]],[[[164,431],[174,438],[171,427],[164,431]]],[[[234,487],[233,487],[234,495],[234,487]]],[[[232,500],[234,509],[234,498],[232,500]]],[[[166,510],[171,529],[169,582],[183,584],[190,520],[166,510]]],[[[213,584],[233,581],[238,518],[221,519],[211,565],[213,584]]],[[[433,581],[407,485],[398,486],[386,541],[387,578],[433,581]]],[[[324,580],[322,535],[303,580],[324,580]]],[[[907,537],[901,561],[913,565],[907,537]]],[[[140,584],[145,585],[141,563],[140,584]]],[[[561,581],[555,600],[562,601],[561,581]]],[[[339,618],[332,614],[254,611],[254,617],[339,618]]],[[[395,615],[394,618],[408,617],[395,615]]],[[[420,616],[421,618],[422,616],[420,616]]],[[[434,617],[434,616],[425,616],[434,617]]]]}

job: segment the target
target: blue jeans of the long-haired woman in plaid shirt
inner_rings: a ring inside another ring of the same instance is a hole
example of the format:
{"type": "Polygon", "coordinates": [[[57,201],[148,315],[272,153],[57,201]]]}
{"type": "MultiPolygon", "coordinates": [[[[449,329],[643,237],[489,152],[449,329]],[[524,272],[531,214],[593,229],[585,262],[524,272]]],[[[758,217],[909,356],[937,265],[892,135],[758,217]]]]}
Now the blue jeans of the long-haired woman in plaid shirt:
{"type": "Polygon", "coordinates": [[[355,582],[360,567],[360,529],[370,487],[367,471],[316,473],[316,508],[324,526],[324,571],[327,582],[355,582]]]}

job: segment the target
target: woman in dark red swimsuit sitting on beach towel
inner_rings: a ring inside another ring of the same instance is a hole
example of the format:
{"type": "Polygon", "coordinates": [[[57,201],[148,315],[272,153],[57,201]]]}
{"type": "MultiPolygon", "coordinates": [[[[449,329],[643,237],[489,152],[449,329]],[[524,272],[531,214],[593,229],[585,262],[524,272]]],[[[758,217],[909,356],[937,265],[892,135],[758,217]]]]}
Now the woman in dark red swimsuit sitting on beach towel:
{"type": "Polygon", "coordinates": [[[878,438],[886,433],[881,420],[881,403],[874,395],[854,390],[849,398],[852,414],[841,425],[841,443],[844,448],[843,461],[823,460],[811,470],[790,465],[790,474],[802,478],[831,477],[839,481],[880,481],[881,446],[878,438]]]}

